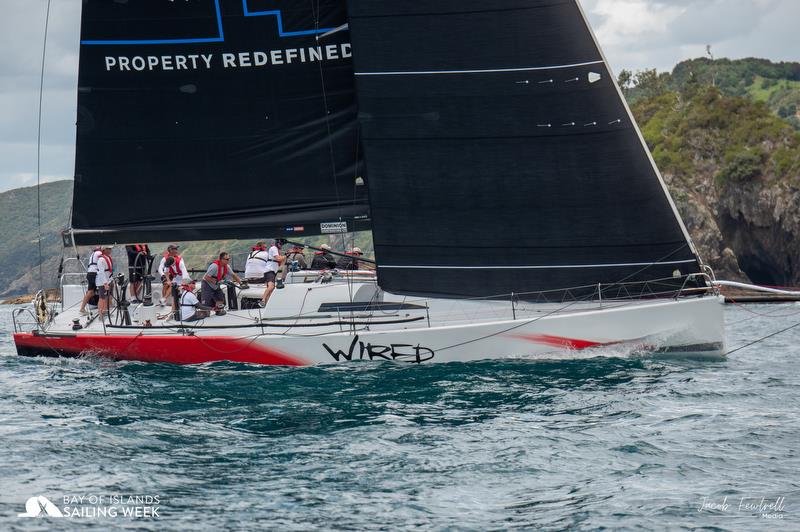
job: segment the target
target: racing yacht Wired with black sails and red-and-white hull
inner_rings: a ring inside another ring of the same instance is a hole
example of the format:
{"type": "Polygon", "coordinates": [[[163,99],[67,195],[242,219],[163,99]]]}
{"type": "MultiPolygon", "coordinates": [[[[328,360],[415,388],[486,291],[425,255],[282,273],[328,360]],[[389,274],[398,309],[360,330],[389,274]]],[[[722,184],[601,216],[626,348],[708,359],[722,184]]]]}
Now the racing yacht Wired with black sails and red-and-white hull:
{"type": "Polygon", "coordinates": [[[231,290],[191,323],[127,302],[87,319],[64,283],[15,316],[19,354],[724,353],[713,272],[577,0],[279,6],[84,2],[65,244],[371,230],[377,279],[288,284],[266,309],[231,290]]]}

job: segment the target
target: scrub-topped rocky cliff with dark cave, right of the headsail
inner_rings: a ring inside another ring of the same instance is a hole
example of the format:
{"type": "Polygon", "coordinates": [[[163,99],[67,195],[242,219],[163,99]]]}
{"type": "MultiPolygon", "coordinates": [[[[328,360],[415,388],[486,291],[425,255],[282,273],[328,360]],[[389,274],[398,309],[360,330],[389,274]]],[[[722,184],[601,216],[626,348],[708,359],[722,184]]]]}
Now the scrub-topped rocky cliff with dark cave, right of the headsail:
{"type": "Polygon", "coordinates": [[[800,285],[800,134],[763,103],[684,89],[633,109],[700,256],[720,278],[800,285]]]}

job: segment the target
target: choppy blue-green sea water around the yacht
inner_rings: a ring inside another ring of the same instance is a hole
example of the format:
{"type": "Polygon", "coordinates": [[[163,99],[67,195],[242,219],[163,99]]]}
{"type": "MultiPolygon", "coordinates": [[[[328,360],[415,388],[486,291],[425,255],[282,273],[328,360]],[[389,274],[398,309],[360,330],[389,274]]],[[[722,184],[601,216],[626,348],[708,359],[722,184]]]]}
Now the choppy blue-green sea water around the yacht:
{"type": "Polygon", "coordinates": [[[13,308],[1,530],[800,530],[800,327],[724,361],[171,366],[17,357],[13,308]]]}

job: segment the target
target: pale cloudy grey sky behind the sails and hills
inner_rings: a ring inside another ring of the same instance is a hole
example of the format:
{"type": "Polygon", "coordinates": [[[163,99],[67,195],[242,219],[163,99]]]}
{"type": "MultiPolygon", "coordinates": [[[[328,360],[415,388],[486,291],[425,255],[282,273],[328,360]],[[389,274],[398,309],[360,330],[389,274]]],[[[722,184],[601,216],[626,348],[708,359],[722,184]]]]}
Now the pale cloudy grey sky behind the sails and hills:
{"type": "MultiPolygon", "coordinates": [[[[615,72],[671,70],[683,59],[705,55],[707,44],[716,57],[800,61],[800,0],[581,3],[615,72]]],[[[81,0],[50,4],[39,166],[43,182],[69,179],[74,172],[80,6],[81,0]]],[[[4,191],[36,184],[47,0],[0,0],[0,7],[0,191],[4,191]]]]}

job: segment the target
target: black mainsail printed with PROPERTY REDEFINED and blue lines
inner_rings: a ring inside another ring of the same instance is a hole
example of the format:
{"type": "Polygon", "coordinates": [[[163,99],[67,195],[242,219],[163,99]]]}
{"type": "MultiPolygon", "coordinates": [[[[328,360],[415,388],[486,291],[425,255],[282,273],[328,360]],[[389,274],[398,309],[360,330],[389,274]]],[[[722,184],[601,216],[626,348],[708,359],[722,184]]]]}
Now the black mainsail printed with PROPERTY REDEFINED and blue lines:
{"type": "Polygon", "coordinates": [[[368,227],[346,22],[339,1],[84,0],[77,243],[368,227]]]}

